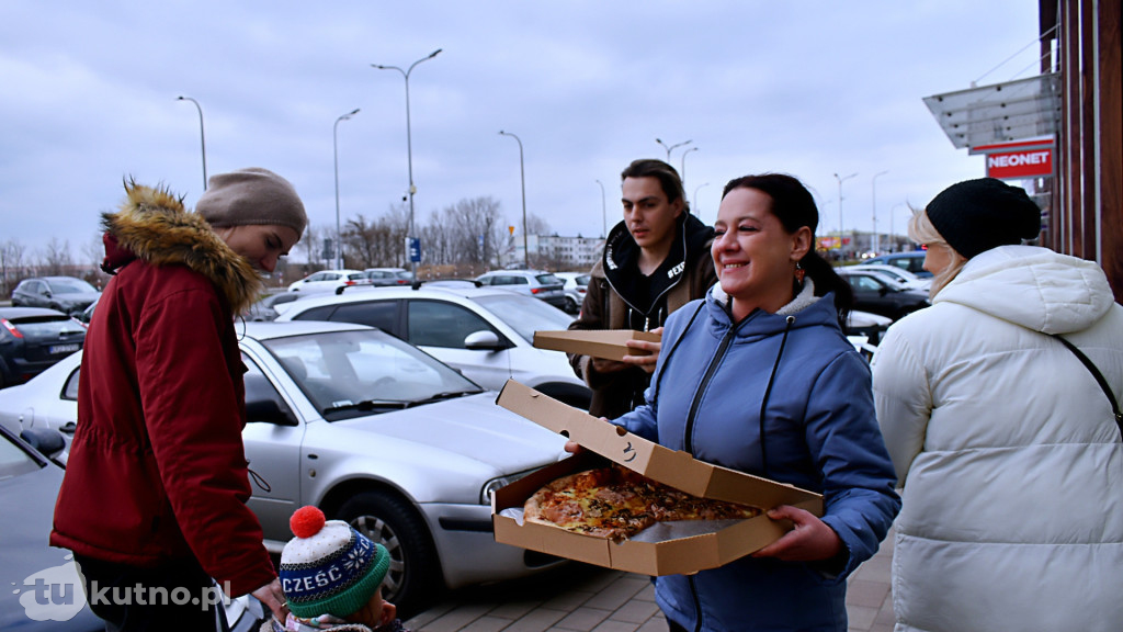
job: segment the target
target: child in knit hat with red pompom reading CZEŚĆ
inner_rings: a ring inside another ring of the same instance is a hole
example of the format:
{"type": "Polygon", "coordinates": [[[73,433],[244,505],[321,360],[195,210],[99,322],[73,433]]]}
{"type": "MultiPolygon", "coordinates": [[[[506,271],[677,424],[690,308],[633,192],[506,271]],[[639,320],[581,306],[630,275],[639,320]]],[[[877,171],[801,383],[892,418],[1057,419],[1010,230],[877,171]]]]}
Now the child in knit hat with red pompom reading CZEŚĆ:
{"type": "Polygon", "coordinates": [[[289,520],[293,538],[281,552],[281,589],[290,614],[261,632],[409,632],[382,598],[390,553],[343,521],[312,506],[289,520]]]}

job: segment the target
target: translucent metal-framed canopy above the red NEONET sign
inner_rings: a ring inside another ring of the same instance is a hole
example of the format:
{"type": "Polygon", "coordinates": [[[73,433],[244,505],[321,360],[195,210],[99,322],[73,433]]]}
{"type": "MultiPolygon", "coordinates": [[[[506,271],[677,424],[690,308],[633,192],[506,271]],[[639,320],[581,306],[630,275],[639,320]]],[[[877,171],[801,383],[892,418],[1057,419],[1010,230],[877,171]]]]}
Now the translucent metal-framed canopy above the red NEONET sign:
{"type": "Polygon", "coordinates": [[[1052,136],[1060,121],[1060,73],[924,99],[956,148],[1052,136]]]}

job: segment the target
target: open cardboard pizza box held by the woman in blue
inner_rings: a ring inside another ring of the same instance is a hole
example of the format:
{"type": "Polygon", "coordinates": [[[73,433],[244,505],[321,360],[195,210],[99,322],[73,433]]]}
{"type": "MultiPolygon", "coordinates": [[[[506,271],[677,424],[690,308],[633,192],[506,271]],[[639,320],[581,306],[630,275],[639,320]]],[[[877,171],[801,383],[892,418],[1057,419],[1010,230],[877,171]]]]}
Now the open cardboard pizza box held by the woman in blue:
{"type": "Polygon", "coordinates": [[[546,524],[521,522],[523,503],[544,485],[569,473],[608,464],[605,459],[694,496],[752,505],[765,511],[777,505],[793,505],[822,515],[823,500],[819,494],[705,463],[686,452],[668,450],[514,380],[508,380],[496,404],[565,434],[586,449],[493,494],[492,522],[496,542],[642,575],[688,575],[724,566],[763,549],[792,529],[789,522],[772,521],[761,513],[749,520],[724,521],[732,524],[716,531],[669,540],[643,538],[643,532],[618,543],[546,524]]]}

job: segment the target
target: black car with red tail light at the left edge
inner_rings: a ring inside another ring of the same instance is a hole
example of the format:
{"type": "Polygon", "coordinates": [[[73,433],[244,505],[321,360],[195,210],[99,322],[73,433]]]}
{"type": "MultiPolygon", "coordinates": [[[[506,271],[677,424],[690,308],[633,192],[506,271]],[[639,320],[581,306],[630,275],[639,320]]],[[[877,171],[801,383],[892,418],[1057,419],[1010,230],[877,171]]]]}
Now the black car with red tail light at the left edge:
{"type": "Polygon", "coordinates": [[[85,326],[42,307],[0,307],[0,388],[24,383],[82,349],[85,326]]]}

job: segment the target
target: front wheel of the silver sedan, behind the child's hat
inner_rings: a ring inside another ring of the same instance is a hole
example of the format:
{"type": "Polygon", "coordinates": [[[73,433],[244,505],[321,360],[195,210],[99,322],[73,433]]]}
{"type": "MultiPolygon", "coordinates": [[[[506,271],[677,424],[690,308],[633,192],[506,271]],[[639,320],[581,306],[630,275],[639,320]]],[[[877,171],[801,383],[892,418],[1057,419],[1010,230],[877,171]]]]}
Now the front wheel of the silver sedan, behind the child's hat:
{"type": "Polygon", "coordinates": [[[344,503],[338,517],[390,552],[383,598],[405,616],[420,612],[442,581],[429,530],[410,503],[384,490],[364,491],[344,503]]]}

